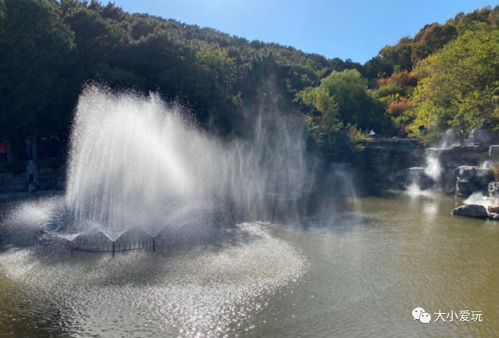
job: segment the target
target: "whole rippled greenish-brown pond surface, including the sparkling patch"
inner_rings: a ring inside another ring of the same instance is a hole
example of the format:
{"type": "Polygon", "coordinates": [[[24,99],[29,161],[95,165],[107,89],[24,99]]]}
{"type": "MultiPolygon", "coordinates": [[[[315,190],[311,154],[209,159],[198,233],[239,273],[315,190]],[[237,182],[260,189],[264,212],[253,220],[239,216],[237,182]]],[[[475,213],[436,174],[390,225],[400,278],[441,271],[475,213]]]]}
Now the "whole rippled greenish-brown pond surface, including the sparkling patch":
{"type": "Polygon", "coordinates": [[[452,216],[454,206],[432,195],[363,198],[300,224],[240,224],[218,239],[114,259],[4,247],[0,332],[497,337],[499,223],[452,216]],[[416,307],[430,324],[413,320],[416,307]],[[483,322],[434,322],[451,310],[482,311],[483,322]]]}

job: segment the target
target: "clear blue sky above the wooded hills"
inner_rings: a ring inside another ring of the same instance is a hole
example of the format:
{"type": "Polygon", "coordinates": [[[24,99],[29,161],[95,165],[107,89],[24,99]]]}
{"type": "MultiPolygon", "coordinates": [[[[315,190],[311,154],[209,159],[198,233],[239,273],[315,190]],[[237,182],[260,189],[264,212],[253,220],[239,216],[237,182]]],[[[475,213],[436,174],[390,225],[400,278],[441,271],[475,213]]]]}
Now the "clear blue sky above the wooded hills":
{"type": "MultiPolygon", "coordinates": [[[[107,2],[107,1],[102,1],[107,2]]],[[[364,63],[386,44],[499,1],[483,0],[114,0],[150,13],[223,32],[291,45],[328,58],[364,63]]]]}

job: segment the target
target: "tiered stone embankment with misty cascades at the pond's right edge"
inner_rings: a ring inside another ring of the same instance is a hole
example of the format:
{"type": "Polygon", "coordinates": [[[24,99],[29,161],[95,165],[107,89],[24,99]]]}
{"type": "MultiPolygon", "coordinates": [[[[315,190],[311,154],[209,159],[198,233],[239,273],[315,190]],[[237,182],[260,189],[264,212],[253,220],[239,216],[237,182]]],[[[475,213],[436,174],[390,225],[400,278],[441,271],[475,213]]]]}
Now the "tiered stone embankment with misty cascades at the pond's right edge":
{"type": "Polygon", "coordinates": [[[499,162],[499,133],[474,130],[464,142],[439,148],[424,147],[416,140],[373,139],[359,153],[354,165],[363,173],[361,185],[372,189],[421,190],[467,198],[488,196],[486,205],[463,205],[455,215],[499,220],[499,183],[492,166],[499,162]]]}

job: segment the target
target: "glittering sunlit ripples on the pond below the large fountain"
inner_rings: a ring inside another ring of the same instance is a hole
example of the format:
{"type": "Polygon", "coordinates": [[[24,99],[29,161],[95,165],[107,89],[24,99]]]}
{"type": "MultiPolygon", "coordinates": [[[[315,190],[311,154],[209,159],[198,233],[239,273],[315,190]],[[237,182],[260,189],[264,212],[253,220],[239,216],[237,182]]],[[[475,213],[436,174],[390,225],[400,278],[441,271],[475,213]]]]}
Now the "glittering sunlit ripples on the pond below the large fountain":
{"type": "Polygon", "coordinates": [[[223,337],[248,329],[265,298],[306,265],[266,224],[240,224],[236,232],[229,242],[114,259],[12,250],[0,255],[0,271],[29,290],[33,306],[56,308],[60,323],[46,325],[72,337],[223,337]]]}

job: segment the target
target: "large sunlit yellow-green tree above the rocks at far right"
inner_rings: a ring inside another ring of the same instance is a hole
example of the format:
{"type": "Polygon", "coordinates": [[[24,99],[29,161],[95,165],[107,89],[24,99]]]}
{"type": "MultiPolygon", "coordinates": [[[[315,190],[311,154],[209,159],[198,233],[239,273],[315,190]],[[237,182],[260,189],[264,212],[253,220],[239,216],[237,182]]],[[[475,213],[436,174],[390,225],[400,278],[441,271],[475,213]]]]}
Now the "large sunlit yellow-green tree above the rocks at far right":
{"type": "Polygon", "coordinates": [[[418,125],[466,134],[499,127],[499,28],[476,23],[442,50],[422,61],[413,97],[418,125]]]}

